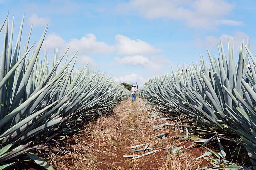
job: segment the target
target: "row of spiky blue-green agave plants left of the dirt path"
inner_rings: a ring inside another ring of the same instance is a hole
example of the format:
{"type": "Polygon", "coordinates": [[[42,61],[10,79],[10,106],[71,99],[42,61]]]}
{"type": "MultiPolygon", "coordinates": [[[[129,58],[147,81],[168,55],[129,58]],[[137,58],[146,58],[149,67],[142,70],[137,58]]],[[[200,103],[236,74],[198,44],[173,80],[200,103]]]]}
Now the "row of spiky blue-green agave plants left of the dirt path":
{"type": "Polygon", "coordinates": [[[41,163],[28,153],[38,148],[35,143],[31,144],[34,136],[75,131],[88,116],[109,111],[129,94],[105,73],[87,67],[75,71],[77,52],[68,57],[67,49],[58,57],[57,49],[50,62],[44,47],[44,57],[40,58],[47,27],[36,48],[33,48],[35,43],[29,43],[32,27],[24,50],[20,48],[23,22],[24,16],[15,46],[12,45],[14,21],[10,33],[8,15],[0,26],[0,32],[5,26],[0,66],[2,165],[25,153],[41,163]]]}

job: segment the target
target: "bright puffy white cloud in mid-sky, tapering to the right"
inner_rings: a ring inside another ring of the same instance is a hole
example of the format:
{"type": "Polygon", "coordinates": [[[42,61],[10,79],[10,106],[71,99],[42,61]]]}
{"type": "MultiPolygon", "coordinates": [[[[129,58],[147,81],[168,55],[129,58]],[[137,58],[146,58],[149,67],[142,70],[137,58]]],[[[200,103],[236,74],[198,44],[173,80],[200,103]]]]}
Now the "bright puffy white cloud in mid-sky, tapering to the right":
{"type": "Polygon", "coordinates": [[[120,55],[142,55],[142,54],[155,54],[161,52],[152,45],[140,39],[132,40],[124,35],[116,35],[117,53],[120,55]]]}

